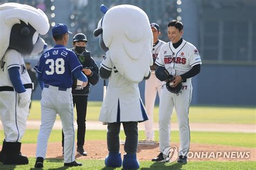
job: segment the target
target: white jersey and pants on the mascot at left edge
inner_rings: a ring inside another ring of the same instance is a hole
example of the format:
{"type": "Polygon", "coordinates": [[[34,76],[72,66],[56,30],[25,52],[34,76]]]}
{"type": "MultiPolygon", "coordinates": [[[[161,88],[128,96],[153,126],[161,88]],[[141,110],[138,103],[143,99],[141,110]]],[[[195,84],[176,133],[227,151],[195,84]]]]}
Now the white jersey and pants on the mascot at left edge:
{"type": "MultiPolygon", "coordinates": [[[[6,142],[20,142],[26,130],[26,118],[29,115],[28,106],[18,107],[19,93],[10,91],[14,86],[11,83],[9,71],[11,67],[19,67],[22,84],[31,84],[31,79],[22,57],[16,50],[8,49],[0,60],[0,114],[4,128],[6,142]],[[8,90],[6,90],[8,89],[8,90]]],[[[31,95],[31,88],[26,91],[31,95]]]]}

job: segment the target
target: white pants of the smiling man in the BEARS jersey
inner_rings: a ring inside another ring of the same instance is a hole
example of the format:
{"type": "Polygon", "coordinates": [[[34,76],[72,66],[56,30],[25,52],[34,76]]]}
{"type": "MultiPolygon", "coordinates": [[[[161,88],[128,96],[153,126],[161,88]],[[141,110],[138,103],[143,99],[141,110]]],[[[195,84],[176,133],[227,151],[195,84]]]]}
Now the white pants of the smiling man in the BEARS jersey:
{"type": "Polygon", "coordinates": [[[187,155],[190,147],[190,126],[188,124],[188,110],[192,97],[192,85],[183,83],[184,89],[179,95],[169,92],[164,85],[159,104],[159,147],[163,152],[170,147],[170,119],[175,107],[179,123],[180,147],[179,155],[187,155]]]}

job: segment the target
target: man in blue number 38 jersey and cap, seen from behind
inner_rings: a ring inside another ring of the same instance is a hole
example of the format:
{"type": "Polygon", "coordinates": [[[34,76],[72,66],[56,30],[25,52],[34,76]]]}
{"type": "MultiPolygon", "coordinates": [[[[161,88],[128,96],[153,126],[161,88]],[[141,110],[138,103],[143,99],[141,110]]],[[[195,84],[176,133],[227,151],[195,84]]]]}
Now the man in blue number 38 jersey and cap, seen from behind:
{"type": "Polygon", "coordinates": [[[43,167],[48,139],[55,123],[56,115],[62,121],[64,142],[64,166],[82,166],[75,161],[75,128],[74,108],[72,104],[71,86],[73,76],[82,81],[82,87],[87,85],[87,77],[83,74],[83,66],[76,54],[65,45],[69,40],[68,28],[65,24],[57,24],[52,28],[52,36],[56,43],[45,51],[35,70],[42,88],[41,126],[37,138],[36,168],[43,167]]]}

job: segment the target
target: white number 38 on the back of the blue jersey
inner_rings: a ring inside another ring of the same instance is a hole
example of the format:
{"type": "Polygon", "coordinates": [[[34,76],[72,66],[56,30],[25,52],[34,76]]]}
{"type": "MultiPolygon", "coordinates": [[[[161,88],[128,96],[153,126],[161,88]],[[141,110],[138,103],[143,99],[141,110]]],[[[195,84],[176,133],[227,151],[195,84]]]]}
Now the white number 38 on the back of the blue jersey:
{"type": "Polygon", "coordinates": [[[65,72],[65,61],[63,58],[57,58],[56,60],[46,59],[45,65],[49,65],[49,70],[45,71],[47,75],[52,75],[55,72],[57,74],[63,74],[65,72]]]}

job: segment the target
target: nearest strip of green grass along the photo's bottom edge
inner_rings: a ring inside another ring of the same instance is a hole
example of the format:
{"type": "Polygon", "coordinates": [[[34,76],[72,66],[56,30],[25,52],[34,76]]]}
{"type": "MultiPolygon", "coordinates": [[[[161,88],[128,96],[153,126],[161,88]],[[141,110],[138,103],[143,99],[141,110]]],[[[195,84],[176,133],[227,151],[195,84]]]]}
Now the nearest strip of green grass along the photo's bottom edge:
{"type": "MultiPolygon", "coordinates": [[[[104,160],[79,160],[79,162],[83,163],[82,167],[72,167],[67,168],[63,166],[63,160],[60,159],[46,159],[44,161],[44,169],[104,169],[110,170],[113,168],[106,168],[104,165],[104,160]]],[[[0,164],[0,169],[38,169],[33,168],[35,165],[35,158],[29,159],[29,165],[21,165],[21,166],[7,166],[0,164]]],[[[255,169],[256,162],[254,161],[228,161],[228,162],[220,162],[220,161],[198,161],[198,162],[188,162],[187,164],[178,164],[177,162],[172,162],[171,164],[153,163],[151,161],[140,161],[140,169],[255,169]]],[[[114,169],[122,169],[122,168],[114,168],[114,169]]]]}

